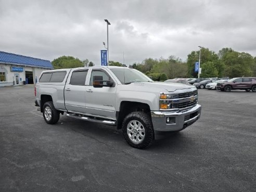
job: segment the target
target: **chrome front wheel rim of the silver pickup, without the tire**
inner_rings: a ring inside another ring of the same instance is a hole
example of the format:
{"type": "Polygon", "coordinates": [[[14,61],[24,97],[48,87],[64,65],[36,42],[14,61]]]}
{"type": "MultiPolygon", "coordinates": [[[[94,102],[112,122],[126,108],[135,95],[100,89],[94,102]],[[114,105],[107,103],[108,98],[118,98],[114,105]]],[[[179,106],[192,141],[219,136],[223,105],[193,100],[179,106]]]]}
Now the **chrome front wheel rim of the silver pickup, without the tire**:
{"type": "Polygon", "coordinates": [[[145,128],[143,124],[137,120],[130,121],[127,124],[127,135],[134,144],[143,142],[145,138],[145,128]]]}

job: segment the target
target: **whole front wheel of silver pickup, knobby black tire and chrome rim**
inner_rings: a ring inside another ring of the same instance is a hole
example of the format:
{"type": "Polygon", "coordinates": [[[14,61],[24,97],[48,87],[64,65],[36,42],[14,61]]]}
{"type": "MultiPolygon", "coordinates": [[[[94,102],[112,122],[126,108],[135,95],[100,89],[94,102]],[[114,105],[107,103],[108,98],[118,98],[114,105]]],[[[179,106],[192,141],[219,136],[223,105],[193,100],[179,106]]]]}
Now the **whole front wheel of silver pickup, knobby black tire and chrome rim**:
{"type": "Polygon", "coordinates": [[[126,142],[134,148],[144,149],[155,140],[151,118],[142,111],[128,114],[123,120],[122,131],[126,142]]]}

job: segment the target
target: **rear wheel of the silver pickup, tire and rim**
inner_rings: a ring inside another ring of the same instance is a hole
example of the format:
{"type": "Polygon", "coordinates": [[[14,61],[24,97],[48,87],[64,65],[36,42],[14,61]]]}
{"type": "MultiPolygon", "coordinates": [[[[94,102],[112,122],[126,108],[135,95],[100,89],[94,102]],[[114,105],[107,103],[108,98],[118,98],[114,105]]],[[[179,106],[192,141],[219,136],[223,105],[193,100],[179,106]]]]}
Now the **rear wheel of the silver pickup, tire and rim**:
{"type": "Polygon", "coordinates": [[[53,105],[53,101],[48,101],[43,106],[44,120],[48,124],[56,124],[59,121],[59,111],[53,105]]]}

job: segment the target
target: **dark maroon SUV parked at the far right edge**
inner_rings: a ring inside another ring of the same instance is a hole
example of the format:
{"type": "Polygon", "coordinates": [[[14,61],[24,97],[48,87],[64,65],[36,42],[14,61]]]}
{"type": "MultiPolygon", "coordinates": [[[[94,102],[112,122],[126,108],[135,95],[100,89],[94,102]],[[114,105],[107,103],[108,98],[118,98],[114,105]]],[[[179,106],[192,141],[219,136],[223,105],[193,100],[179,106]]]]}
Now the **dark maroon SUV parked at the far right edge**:
{"type": "Polygon", "coordinates": [[[227,82],[217,83],[216,89],[225,92],[231,92],[232,89],[256,92],[256,78],[233,78],[227,82]]]}

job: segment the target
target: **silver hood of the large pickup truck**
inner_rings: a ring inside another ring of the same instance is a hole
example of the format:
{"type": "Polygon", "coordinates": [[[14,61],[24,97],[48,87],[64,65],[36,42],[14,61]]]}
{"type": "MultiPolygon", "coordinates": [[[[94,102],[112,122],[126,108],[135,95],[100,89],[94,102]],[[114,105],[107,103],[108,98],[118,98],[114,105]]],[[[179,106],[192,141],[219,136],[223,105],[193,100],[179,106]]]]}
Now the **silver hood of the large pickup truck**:
{"type": "Polygon", "coordinates": [[[167,82],[134,82],[130,84],[131,86],[141,86],[148,90],[154,91],[168,91],[168,92],[175,92],[177,89],[188,89],[188,88],[195,88],[193,85],[186,85],[182,83],[167,83],[167,82]]]}

